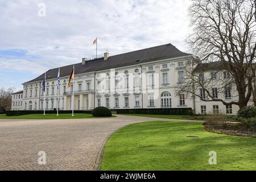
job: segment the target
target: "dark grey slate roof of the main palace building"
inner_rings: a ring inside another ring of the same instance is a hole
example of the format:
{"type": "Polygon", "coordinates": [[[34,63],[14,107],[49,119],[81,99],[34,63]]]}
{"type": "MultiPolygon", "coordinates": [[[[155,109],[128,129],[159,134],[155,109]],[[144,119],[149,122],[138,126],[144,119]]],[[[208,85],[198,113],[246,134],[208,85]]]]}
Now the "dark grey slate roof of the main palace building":
{"type": "MultiPolygon", "coordinates": [[[[135,65],[135,64],[141,64],[141,63],[147,63],[150,61],[155,61],[159,59],[170,59],[175,57],[181,57],[181,56],[190,56],[189,53],[184,53],[179,51],[175,46],[172,44],[164,44],[162,46],[156,46],[146,49],[141,49],[138,51],[133,52],[127,52],[122,53],[115,56],[109,56],[108,60],[105,60],[103,58],[93,60],[91,62],[85,63],[82,65],[82,63],[75,64],[75,75],[80,73],[89,73],[94,71],[101,71],[104,69],[111,69],[111,68],[118,68],[118,67],[124,67],[128,65],[135,65]]],[[[60,67],[60,77],[69,76],[71,75],[73,69],[73,64],[67,65],[65,67],[60,67]]],[[[59,68],[53,68],[49,69],[46,73],[46,80],[57,78],[57,72],[59,68]]],[[[42,81],[44,77],[44,73],[40,75],[39,77],[36,77],[33,80],[30,80],[29,82],[34,81],[42,81]]]]}

